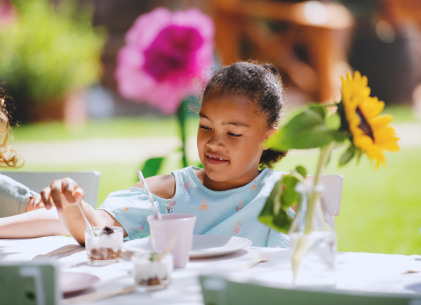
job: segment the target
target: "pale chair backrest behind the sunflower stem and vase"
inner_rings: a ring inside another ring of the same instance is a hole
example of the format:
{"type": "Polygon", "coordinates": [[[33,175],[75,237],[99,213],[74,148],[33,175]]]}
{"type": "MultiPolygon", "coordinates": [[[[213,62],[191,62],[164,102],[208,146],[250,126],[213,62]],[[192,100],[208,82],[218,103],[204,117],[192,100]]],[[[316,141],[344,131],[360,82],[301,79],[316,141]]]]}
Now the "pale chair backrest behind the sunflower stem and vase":
{"type": "MultiPolygon", "coordinates": [[[[308,175],[306,179],[314,179],[314,175],[308,175]]],[[[338,216],[340,213],[340,201],[342,199],[342,175],[321,175],[320,182],[325,186],[321,195],[321,201],[330,216],[338,216]]]]}

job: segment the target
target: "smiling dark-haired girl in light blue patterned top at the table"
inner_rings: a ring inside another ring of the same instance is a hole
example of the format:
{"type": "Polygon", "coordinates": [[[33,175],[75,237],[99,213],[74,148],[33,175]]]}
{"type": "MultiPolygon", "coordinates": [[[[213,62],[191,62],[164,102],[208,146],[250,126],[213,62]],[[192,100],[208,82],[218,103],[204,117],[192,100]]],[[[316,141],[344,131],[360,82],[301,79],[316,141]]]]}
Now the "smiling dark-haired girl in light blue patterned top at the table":
{"type": "MultiPolygon", "coordinates": [[[[264,147],[279,123],[281,87],[271,65],[238,62],[215,73],[199,111],[197,147],[203,168],[190,166],[147,179],[161,213],[196,215],[194,234],[241,236],[255,246],[288,247],[284,234],[258,221],[281,176],[269,167],[285,155],[264,147]]],[[[84,243],[86,224],[74,204],[83,190],[76,182],[55,181],[41,197],[46,208],[57,207],[67,231],[84,243]]],[[[153,212],[140,182],[109,194],[96,211],[83,201],[81,205],[94,226],[122,226],[130,239],[149,236],[146,217],[153,212]]]]}

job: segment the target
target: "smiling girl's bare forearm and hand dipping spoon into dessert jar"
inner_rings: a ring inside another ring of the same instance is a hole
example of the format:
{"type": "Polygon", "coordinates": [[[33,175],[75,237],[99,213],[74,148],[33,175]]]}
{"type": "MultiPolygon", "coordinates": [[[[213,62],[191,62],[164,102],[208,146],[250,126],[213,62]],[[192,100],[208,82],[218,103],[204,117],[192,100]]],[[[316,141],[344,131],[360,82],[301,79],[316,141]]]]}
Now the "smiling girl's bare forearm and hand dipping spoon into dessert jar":
{"type": "MultiPolygon", "coordinates": [[[[107,212],[94,210],[91,205],[82,200],[83,196],[83,189],[70,178],[55,180],[50,187],[41,191],[41,198],[46,209],[50,210],[53,206],[57,208],[60,222],[81,245],[85,243],[86,223],[76,204],[78,202],[93,226],[121,226],[107,212]]],[[[127,236],[126,232],[124,236],[127,236]]]]}

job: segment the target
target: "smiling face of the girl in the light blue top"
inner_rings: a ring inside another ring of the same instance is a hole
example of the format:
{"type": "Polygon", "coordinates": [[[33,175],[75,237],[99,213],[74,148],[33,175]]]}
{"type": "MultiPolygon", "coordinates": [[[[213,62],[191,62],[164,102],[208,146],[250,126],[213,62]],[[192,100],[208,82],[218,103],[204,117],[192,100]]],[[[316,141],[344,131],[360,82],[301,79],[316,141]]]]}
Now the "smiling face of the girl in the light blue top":
{"type": "Polygon", "coordinates": [[[205,170],[203,185],[214,191],[234,189],[258,174],[262,144],[276,131],[245,97],[203,98],[197,147],[205,170]]]}

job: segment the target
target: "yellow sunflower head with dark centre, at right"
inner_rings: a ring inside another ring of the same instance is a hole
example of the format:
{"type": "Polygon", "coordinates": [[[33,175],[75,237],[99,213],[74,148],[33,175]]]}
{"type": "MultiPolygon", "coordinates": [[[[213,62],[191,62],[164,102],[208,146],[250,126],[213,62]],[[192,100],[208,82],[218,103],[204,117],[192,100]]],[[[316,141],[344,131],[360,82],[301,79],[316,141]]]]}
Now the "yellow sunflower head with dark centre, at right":
{"type": "Polygon", "coordinates": [[[347,73],[347,78],[341,77],[342,103],[352,133],[354,145],[364,151],[369,158],[385,165],[384,150],[399,151],[396,132],[389,123],[393,117],[389,114],[380,115],[385,103],[377,97],[370,97],[367,77],[356,71],[354,77],[347,73]]]}

